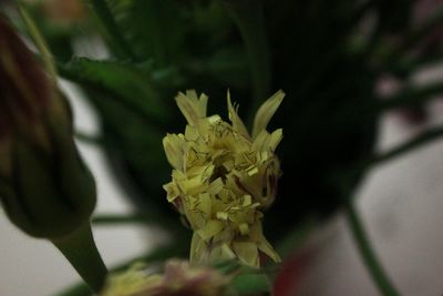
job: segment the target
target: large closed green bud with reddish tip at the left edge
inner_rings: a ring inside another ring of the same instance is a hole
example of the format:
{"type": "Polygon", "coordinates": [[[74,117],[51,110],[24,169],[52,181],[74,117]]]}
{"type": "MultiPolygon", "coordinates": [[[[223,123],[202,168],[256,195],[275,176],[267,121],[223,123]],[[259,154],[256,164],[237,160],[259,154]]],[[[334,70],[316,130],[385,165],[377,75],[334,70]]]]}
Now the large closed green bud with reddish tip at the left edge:
{"type": "Polygon", "coordinates": [[[95,206],[68,102],[1,17],[0,200],[23,232],[50,239],[78,229],[95,206]]]}

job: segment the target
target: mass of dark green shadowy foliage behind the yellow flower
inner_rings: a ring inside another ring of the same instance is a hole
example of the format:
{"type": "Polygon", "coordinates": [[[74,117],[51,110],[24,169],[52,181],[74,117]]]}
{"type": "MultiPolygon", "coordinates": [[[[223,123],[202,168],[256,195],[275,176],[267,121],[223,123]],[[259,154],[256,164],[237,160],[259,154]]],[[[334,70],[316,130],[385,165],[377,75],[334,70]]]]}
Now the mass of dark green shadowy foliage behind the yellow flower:
{"type": "MultiPolygon", "coordinates": [[[[259,68],[249,64],[250,48],[228,11],[248,1],[107,1],[117,30],[106,40],[115,43],[113,35],[120,34],[134,57],[115,50],[109,61],[60,63],[61,74],[81,83],[96,106],[107,155],[143,211],[173,213],[162,190],[171,170],[161,140],[166,132],[183,131],[184,119],[173,100],[177,91],[206,92],[209,112],[224,115],[230,89],[244,118],[265,99],[254,98],[257,75],[250,69],[259,68]]],[[[281,238],[307,215],[328,216],[340,207],[337,180],[351,175],[350,191],[359,184],[365,171],[354,170],[373,156],[382,112],[420,105],[441,91],[440,83],[424,89],[406,84],[388,103],[375,92],[382,74],[408,81],[419,67],[442,58],[435,42],[425,50],[420,45],[430,32],[441,30],[440,10],[414,24],[416,4],[276,0],[243,11],[262,11],[256,20],[264,20],[265,30],[258,33],[270,55],[268,94],[279,89],[287,93],[271,122],[285,134],[279,196],[265,222],[272,238],[281,238]]]]}

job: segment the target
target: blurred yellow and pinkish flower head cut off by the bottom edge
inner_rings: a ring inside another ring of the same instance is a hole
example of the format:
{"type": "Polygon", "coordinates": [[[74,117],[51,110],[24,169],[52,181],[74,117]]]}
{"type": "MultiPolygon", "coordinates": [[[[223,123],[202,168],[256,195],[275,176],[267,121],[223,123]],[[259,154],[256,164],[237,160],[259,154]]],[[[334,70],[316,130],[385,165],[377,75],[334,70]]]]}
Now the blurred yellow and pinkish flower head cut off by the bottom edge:
{"type": "Polygon", "coordinates": [[[189,267],[188,263],[168,261],[164,274],[148,274],[144,265],[111,276],[102,296],[222,296],[227,276],[208,267],[189,267]]]}

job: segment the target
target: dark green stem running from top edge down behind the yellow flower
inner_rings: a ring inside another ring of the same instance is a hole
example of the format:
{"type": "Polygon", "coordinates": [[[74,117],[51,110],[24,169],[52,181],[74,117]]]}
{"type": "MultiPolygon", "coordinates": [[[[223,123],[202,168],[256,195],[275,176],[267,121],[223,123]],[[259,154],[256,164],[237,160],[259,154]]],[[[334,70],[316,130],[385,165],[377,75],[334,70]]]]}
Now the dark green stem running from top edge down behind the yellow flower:
{"type": "MultiPolygon", "coordinates": [[[[236,0],[224,1],[224,3],[245,42],[254,88],[251,110],[257,110],[259,103],[269,95],[271,83],[271,57],[266,35],[262,1],[236,0]]],[[[250,122],[253,119],[249,120],[250,122]]]]}

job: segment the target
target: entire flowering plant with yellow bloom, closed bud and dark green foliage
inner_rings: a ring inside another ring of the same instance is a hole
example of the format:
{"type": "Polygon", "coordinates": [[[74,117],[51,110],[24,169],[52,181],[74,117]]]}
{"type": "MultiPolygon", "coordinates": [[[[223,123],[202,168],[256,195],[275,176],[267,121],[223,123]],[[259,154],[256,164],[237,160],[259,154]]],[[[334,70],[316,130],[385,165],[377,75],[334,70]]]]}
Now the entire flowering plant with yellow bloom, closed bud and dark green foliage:
{"type": "Polygon", "coordinates": [[[382,114],[422,114],[442,91],[411,83],[442,52],[443,8],[423,2],[1,1],[3,212],[82,277],[60,295],[193,296],[284,295],[272,283],[306,238],[295,234],[341,211],[380,294],[399,295],[352,196],[372,167],[443,133],[374,150],[382,114]],[[82,89],[100,135],[74,130],[60,78],[82,89]],[[379,91],[387,78],[396,91],[379,91]],[[93,215],[74,139],[104,150],[136,213],[93,215]],[[107,268],[97,221],[156,225],[169,252],[107,268]]]}

